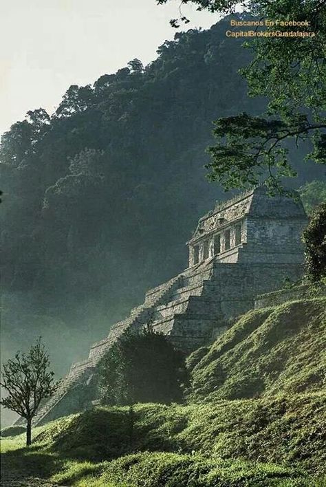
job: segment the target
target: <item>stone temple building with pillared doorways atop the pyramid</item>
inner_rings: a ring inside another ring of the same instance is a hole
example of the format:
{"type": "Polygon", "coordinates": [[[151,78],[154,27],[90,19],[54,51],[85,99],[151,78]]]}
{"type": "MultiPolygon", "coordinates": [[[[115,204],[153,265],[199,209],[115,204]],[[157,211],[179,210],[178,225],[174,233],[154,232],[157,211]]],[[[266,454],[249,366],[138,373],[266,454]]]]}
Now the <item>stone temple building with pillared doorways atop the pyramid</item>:
{"type": "Polygon", "coordinates": [[[217,204],[199,219],[189,246],[189,267],[219,262],[302,261],[301,232],[307,217],[301,202],[270,198],[265,186],[217,204]]]}

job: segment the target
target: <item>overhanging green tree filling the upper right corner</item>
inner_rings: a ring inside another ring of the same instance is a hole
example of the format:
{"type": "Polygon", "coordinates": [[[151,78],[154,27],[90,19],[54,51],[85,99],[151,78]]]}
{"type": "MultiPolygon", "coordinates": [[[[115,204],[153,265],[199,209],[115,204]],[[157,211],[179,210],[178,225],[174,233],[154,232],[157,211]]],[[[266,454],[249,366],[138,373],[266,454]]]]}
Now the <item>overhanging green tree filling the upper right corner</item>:
{"type": "MultiPolygon", "coordinates": [[[[222,14],[234,12],[239,5],[234,0],[181,3],[195,3],[198,10],[222,14]]],[[[208,148],[211,162],[206,168],[210,170],[209,179],[226,189],[264,179],[272,192],[282,192],[283,178],[296,176],[288,157],[289,141],[298,145],[309,140],[313,149],[306,160],[326,162],[326,1],[258,0],[244,1],[241,6],[251,15],[238,14],[239,21],[274,21],[274,25],[260,29],[265,36],[245,44],[254,58],[241,70],[248,82],[248,94],[267,97],[268,109],[261,116],[239,113],[216,120],[213,134],[217,142],[208,148]],[[289,27],[289,21],[307,24],[289,27]],[[276,30],[281,35],[272,36],[276,30]],[[307,36],[290,38],[286,36],[289,30],[307,36]]]]}

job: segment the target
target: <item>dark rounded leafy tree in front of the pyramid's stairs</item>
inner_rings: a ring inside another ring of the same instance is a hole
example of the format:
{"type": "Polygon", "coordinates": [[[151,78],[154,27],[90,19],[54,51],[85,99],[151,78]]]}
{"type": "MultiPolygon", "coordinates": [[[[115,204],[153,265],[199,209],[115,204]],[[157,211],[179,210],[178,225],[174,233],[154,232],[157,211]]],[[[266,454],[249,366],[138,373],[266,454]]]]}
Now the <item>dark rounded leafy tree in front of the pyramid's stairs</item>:
{"type": "Polygon", "coordinates": [[[147,327],[126,332],[100,365],[99,392],[104,404],[180,402],[187,383],[184,354],[147,327]]]}

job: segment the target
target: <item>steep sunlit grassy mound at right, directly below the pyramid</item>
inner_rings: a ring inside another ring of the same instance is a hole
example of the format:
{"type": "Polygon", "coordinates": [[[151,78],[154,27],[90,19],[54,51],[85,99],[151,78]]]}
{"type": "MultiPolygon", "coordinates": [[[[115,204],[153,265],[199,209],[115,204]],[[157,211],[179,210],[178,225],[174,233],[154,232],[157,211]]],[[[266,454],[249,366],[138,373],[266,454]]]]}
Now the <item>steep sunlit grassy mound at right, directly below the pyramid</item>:
{"type": "Polygon", "coordinates": [[[188,358],[193,376],[191,400],[252,398],[325,388],[325,310],[326,299],[318,298],[243,315],[200,360],[198,351],[188,358]]]}

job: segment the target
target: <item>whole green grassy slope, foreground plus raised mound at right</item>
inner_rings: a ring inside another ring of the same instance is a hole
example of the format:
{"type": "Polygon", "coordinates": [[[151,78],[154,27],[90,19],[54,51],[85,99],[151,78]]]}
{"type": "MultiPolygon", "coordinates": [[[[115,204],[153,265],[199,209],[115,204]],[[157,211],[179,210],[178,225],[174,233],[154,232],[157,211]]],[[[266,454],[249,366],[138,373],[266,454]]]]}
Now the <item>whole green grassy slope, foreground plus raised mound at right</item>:
{"type": "Polygon", "coordinates": [[[325,303],[242,316],[188,358],[188,404],[96,407],[36,428],[31,448],[3,440],[3,485],[325,486],[325,303]]]}

